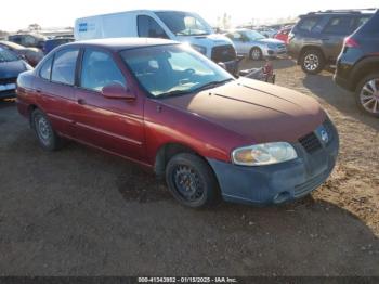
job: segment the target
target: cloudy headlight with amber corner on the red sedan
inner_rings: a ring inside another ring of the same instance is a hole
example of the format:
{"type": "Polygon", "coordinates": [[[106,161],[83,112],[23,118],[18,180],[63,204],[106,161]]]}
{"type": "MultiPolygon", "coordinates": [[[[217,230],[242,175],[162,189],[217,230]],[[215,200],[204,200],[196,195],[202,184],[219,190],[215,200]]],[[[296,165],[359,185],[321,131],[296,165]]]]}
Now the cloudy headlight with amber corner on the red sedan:
{"type": "Polygon", "coordinates": [[[232,162],[240,166],[262,166],[297,158],[295,149],[287,142],[264,143],[239,147],[232,152],[232,162]]]}

